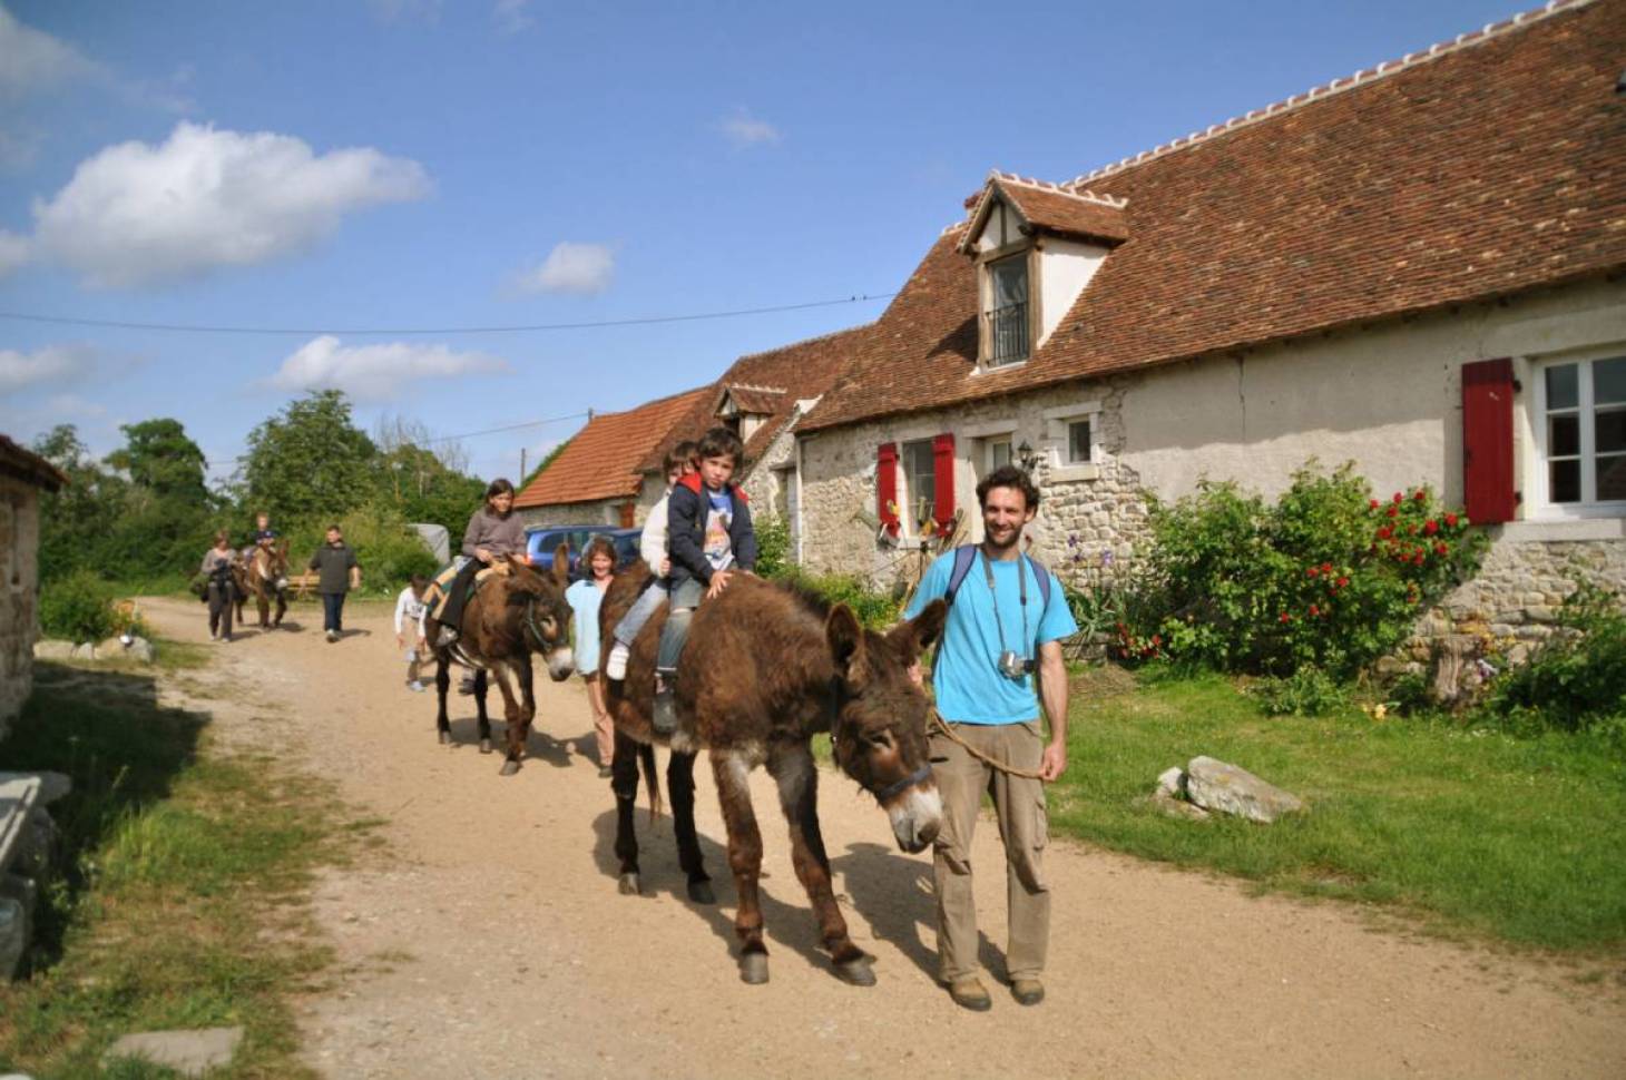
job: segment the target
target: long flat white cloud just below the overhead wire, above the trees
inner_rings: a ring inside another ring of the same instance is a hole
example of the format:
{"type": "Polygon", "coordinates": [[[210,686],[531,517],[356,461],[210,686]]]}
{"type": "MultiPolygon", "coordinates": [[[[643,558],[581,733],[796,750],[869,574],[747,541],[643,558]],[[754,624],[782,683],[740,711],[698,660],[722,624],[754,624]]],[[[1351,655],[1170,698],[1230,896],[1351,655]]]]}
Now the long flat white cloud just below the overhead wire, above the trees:
{"type": "Polygon", "coordinates": [[[385,402],[418,379],[499,374],[507,361],[485,353],[455,353],[444,345],[341,345],[324,333],[302,345],[268,379],[280,390],[345,390],[358,400],[385,402]]]}

